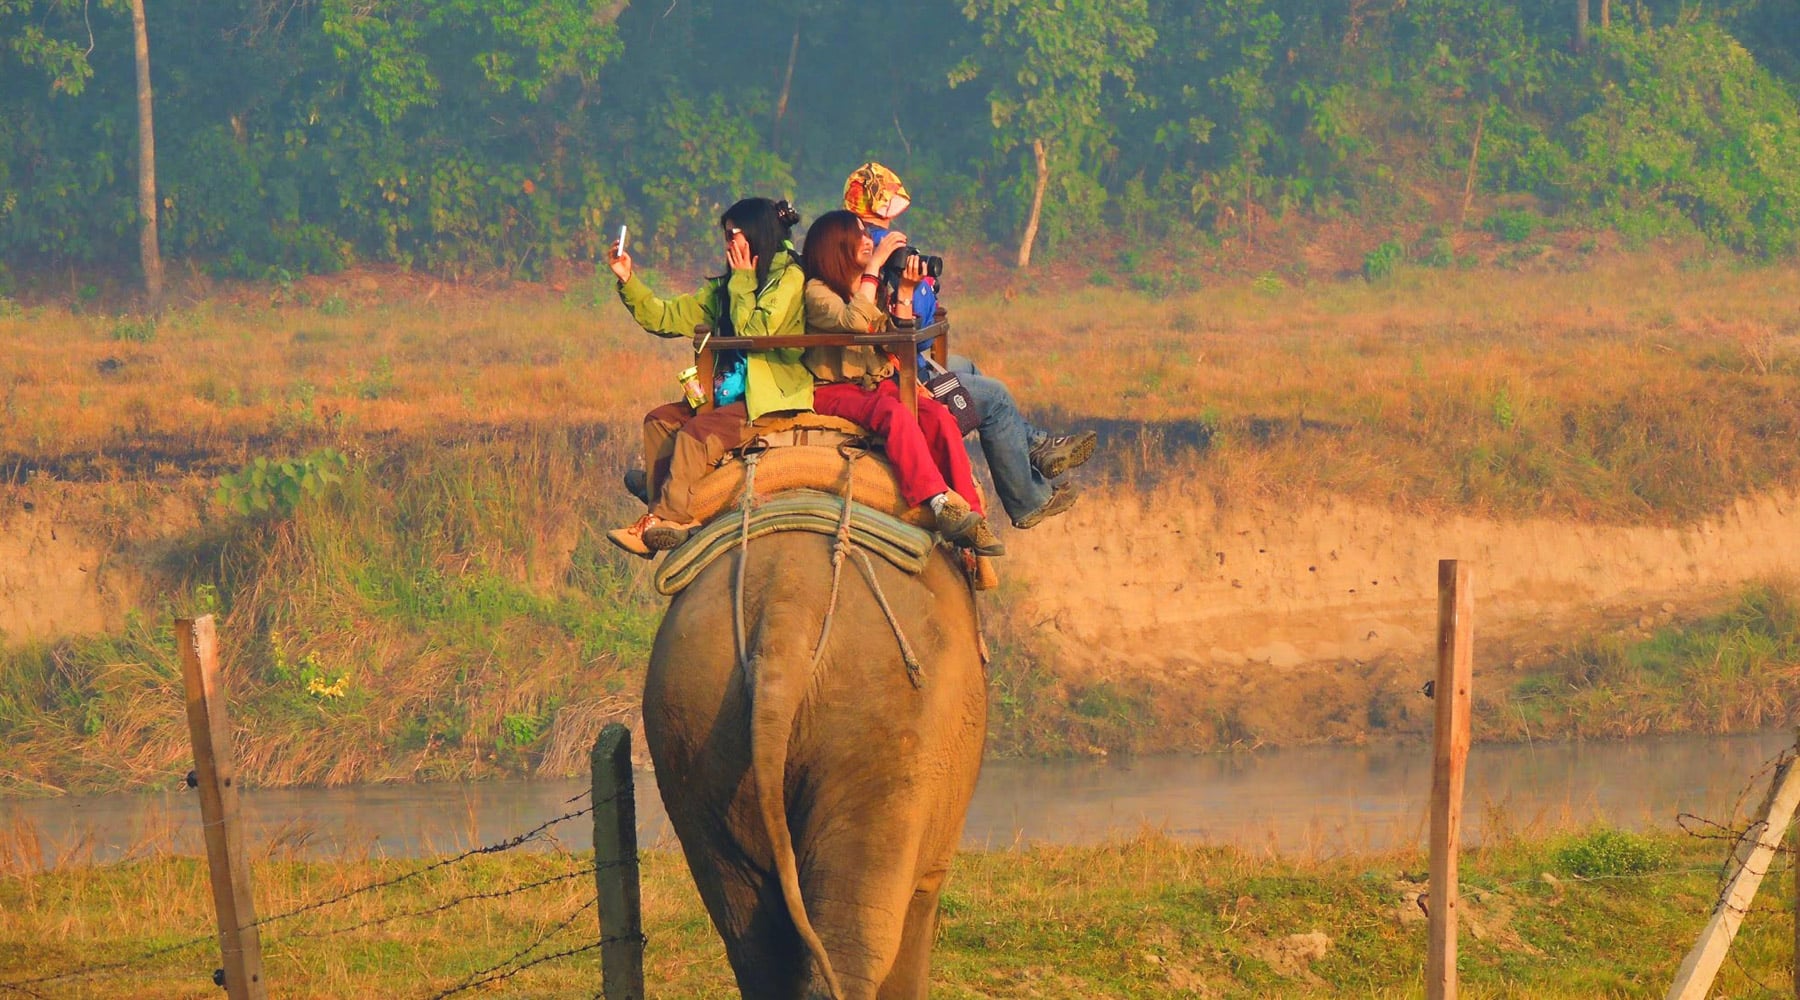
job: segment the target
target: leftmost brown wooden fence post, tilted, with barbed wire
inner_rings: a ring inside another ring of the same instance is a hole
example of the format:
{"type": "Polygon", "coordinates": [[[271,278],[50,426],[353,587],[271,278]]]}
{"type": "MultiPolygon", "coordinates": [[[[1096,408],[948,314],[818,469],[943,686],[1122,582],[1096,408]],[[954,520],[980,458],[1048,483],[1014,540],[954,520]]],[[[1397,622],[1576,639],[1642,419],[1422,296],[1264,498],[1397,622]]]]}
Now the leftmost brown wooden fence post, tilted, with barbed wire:
{"type": "Polygon", "coordinates": [[[238,820],[238,764],[230,750],[230,719],[220,683],[212,615],[175,619],[175,637],[182,646],[187,736],[194,745],[193,781],[200,788],[212,910],[218,914],[220,955],[225,960],[225,995],[230,1000],[266,1000],[263,939],[256,930],[250,862],[243,851],[243,824],[238,820]]]}

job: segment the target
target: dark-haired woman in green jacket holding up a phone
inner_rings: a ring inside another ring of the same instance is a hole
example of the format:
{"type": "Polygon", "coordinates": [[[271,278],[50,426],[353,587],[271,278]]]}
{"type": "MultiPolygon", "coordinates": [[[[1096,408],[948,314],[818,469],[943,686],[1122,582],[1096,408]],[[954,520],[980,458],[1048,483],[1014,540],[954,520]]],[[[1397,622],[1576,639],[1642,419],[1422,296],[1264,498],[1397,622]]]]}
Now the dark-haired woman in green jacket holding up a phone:
{"type": "MultiPolygon", "coordinates": [[[[801,273],[788,237],[799,212],[787,201],[745,198],[718,219],[727,270],[706,279],[693,295],[657,299],[632,268],[623,246],[610,246],[607,264],[619,279],[619,299],[637,326],[657,336],[693,336],[700,324],[715,336],[783,336],[805,333],[801,273]]],[[[731,367],[720,358],[720,371],[731,367]]],[[[716,392],[716,387],[706,387],[716,392]]],[[[652,558],[686,541],[697,527],[689,511],[693,486],[727,451],[743,444],[749,421],[763,414],[812,410],[812,372],[799,349],[749,351],[743,399],[707,414],[686,401],[664,403],[644,415],[644,496],[650,511],[637,523],[607,532],[614,545],[652,558]]]]}

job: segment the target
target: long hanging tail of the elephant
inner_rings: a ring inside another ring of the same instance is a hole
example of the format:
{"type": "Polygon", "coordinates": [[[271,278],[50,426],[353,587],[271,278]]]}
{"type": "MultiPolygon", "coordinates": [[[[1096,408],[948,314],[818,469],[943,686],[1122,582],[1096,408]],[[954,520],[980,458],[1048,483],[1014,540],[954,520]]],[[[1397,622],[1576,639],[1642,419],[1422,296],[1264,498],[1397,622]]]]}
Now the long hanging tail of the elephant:
{"type": "Polygon", "coordinates": [[[756,781],[756,804],[774,854],[776,876],[781,879],[781,899],[788,919],[812,951],[833,1000],[844,996],[832,971],[824,942],[806,917],[806,901],[799,894],[799,862],[794,856],[794,836],[787,822],[787,754],[794,736],[794,719],[814,687],[814,621],[817,610],[794,604],[767,604],[751,640],[751,773],[756,781]]]}

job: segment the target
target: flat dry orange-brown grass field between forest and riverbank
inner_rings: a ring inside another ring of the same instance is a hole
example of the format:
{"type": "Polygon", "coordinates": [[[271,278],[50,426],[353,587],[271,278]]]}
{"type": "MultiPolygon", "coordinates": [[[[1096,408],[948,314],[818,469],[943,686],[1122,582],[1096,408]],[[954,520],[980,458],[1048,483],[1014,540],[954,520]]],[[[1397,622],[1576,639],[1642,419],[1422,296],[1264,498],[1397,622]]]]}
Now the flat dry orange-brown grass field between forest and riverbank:
{"type": "MultiPolygon", "coordinates": [[[[1670,522],[1793,478],[1796,297],[1791,268],[1627,257],[1166,297],[1042,279],[952,299],[952,320],[1030,410],[1116,426],[1105,459],[1127,480],[1670,522]],[[1172,459],[1204,444],[1217,462],[1172,459]]],[[[598,279],[562,295],[308,279],[158,324],[14,309],[0,457],[13,480],[104,478],[310,442],[630,435],[680,363],[598,279]]]]}

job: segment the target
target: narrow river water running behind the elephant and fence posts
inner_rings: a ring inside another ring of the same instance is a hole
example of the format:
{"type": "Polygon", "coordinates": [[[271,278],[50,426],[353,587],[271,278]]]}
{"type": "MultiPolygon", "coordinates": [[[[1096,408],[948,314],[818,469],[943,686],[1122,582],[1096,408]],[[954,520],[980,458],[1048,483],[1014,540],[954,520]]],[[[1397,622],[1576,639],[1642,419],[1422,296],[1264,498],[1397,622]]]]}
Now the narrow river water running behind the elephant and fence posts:
{"type": "MultiPolygon", "coordinates": [[[[1591,822],[1669,829],[1679,813],[1730,822],[1733,809],[1757,806],[1768,784],[1759,770],[1793,743],[1791,730],[1778,730],[1478,745],[1463,795],[1465,842],[1480,844],[1496,824],[1530,835],[1591,822]]],[[[446,854],[581,809],[585,791],[585,781],[250,788],[243,793],[245,844],[257,858],[446,854]]],[[[1429,793],[1427,741],[1100,763],[992,761],[981,772],[963,844],[1096,844],[1156,831],[1282,854],[1382,851],[1424,844],[1429,793]]],[[[637,813],[644,847],[675,845],[650,773],[637,777],[637,813]]],[[[547,833],[554,840],[545,845],[592,845],[587,817],[547,833]]],[[[27,867],[171,849],[198,854],[200,802],[185,790],[0,799],[0,849],[27,867]]]]}

